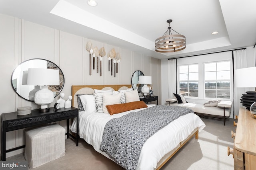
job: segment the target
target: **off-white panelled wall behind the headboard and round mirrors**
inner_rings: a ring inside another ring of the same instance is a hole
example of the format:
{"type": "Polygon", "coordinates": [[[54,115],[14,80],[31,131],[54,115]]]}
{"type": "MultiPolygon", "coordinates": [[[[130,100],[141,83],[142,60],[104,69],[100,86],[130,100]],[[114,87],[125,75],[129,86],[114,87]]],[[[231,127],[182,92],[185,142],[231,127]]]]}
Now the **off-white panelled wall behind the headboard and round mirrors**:
{"type": "MultiPolygon", "coordinates": [[[[14,112],[22,106],[38,108],[34,102],[20,98],[12,89],[10,81],[18,64],[34,58],[47,59],[60,67],[65,78],[62,90],[65,100],[71,95],[72,85],[131,84],[132,73],[136,70],[152,76],[154,95],[161,95],[161,61],[158,59],[11,16],[0,14],[0,23],[0,114],[14,112]],[[104,47],[106,50],[106,56],[102,60],[102,76],[96,69],[89,75],[89,52],[86,51],[88,41],[92,42],[93,47],[104,47]],[[112,48],[121,54],[115,78],[108,71],[107,54],[112,48]]],[[[53,107],[58,98],[59,96],[55,98],[50,107],[53,107]]],[[[66,121],[59,123],[66,127],[66,121]]],[[[6,149],[21,145],[24,145],[23,129],[6,134],[6,149]]],[[[22,151],[8,152],[6,157],[22,151]]]]}

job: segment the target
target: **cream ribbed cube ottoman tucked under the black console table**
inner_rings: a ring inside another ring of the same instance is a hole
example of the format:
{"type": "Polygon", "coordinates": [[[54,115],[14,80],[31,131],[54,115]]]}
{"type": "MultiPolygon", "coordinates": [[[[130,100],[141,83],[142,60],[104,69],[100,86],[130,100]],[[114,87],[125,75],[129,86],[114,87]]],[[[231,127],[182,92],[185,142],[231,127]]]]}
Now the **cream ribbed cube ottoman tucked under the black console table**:
{"type": "Polygon", "coordinates": [[[33,169],[65,155],[64,127],[58,124],[25,130],[24,157],[33,169]]]}

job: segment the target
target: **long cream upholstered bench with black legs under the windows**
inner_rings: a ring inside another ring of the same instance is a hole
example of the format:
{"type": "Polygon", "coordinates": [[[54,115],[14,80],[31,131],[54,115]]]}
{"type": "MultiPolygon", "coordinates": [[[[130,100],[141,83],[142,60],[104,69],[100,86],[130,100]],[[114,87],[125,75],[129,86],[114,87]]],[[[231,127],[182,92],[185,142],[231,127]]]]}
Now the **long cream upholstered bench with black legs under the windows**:
{"type": "Polygon", "coordinates": [[[226,123],[226,118],[230,116],[231,112],[231,101],[221,101],[215,107],[204,106],[202,104],[194,104],[194,103],[183,103],[178,104],[176,99],[166,99],[166,102],[169,102],[170,106],[182,106],[192,109],[197,115],[200,117],[212,118],[223,120],[224,125],[226,123]]]}

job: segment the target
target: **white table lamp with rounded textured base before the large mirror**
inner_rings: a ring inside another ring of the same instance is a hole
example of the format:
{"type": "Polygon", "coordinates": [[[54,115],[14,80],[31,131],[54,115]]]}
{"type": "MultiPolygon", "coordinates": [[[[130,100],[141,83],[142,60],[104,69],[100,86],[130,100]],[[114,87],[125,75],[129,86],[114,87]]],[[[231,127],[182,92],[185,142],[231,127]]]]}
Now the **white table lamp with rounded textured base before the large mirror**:
{"type": "Polygon", "coordinates": [[[48,85],[60,85],[59,70],[46,68],[28,68],[28,85],[41,86],[35,94],[34,101],[40,105],[40,112],[46,112],[50,109],[48,104],[54,100],[54,92],[48,89],[48,85]]]}

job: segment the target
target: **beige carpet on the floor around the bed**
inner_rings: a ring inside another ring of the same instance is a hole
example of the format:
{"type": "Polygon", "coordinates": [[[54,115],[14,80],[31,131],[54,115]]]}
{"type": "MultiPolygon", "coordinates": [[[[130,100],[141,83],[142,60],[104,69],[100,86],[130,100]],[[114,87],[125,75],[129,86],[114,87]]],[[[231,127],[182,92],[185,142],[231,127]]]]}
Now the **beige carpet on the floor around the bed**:
{"type": "MultiPolygon", "coordinates": [[[[223,121],[202,119],[206,127],[174,155],[161,170],[233,170],[232,155],[227,155],[227,147],[233,148],[231,130],[234,119],[226,126],[223,121]]],[[[6,160],[24,160],[24,154],[18,154],[6,160]]],[[[91,145],[80,139],[76,147],[74,141],[66,139],[65,156],[34,168],[34,170],[123,170],[112,160],[96,152],[91,145]]]]}

